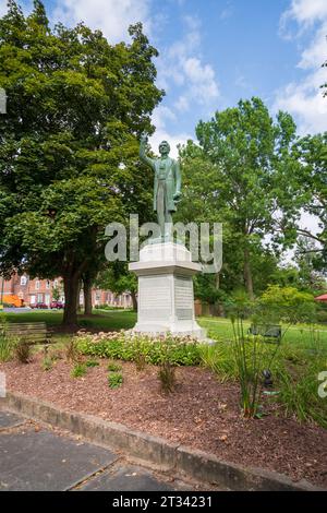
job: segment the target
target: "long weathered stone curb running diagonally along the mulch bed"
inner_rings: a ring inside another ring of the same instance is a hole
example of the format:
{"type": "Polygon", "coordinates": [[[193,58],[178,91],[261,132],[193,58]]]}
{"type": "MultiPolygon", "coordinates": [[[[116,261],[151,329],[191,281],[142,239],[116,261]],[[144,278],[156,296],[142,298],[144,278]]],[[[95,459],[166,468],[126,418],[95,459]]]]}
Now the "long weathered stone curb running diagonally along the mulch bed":
{"type": "Polygon", "coordinates": [[[255,467],[223,462],[213,454],[197,451],[164,438],[130,429],[98,417],[60,409],[52,403],[8,392],[0,406],[53,427],[66,429],[90,442],[121,451],[145,464],[173,470],[180,477],[196,479],[230,490],[323,491],[308,481],[292,481],[287,476],[255,467]]]}

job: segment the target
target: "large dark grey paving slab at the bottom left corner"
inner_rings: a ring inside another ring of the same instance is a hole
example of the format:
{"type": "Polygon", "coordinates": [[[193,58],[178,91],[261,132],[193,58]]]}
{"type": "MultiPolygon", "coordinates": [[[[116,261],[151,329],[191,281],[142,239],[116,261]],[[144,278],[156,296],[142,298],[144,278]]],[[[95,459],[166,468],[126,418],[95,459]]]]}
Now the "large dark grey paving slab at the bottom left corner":
{"type": "Polygon", "coordinates": [[[43,430],[0,433],[0,490],[66,490],[118,458],[43,430]]]}

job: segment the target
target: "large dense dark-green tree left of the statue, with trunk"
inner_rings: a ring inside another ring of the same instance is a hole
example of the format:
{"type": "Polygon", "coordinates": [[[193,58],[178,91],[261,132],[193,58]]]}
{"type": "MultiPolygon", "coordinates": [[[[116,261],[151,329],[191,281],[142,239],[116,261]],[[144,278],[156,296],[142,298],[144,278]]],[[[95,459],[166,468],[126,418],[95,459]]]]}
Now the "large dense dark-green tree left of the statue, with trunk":
{"type": "Polygon", "coordinates": [[[28,16],[10,0],[0,20],[1,269],[61,275],[65,324],[82,277],[104,265],[105,226],[150,204],[135,136],[153,131],[162,92],[141,24],[130,36],[112,46],[83,23],[50,28],[38,0],[28,16]]]}

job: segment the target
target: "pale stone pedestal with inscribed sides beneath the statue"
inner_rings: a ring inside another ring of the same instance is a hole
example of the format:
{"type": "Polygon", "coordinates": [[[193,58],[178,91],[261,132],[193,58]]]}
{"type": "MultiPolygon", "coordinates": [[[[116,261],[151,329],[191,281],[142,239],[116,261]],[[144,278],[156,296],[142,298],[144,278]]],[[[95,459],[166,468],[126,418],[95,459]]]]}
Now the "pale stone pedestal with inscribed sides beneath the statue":
{"type": "Polygon", "coordinates": [[[194,317],[192,281],[192,275],[201,272],[201,264],[192,262],[184,246],[175,242],[147,244],[140,251],[140,261],[130,263],[129,269],[138,276],[134,331],[205,338],[205,330],[194,317]]]}

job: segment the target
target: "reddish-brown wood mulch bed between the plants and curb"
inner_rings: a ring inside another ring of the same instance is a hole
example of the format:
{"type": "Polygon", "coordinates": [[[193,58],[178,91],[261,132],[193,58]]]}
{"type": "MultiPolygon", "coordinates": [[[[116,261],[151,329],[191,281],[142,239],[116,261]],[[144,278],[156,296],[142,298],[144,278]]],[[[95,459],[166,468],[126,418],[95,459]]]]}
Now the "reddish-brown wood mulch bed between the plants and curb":
{"type": "Polygon", "coordinates": [[[219,383],[207,369],[178,368],[177,390],[165,395],[158,369],[153,366],[137,372],[134,363],[122,362],[123,384],[110,390],[107,360],[76,379],[65,359],[44,371],[41,358],[35,355],[28,365],[0,363],[8,389],[210,452],[228,462],[327,487],[326,430],[284,418],[281,409],[269,404],[265,408],[268,416],[242,418],[238,386],[219,383]]]}

